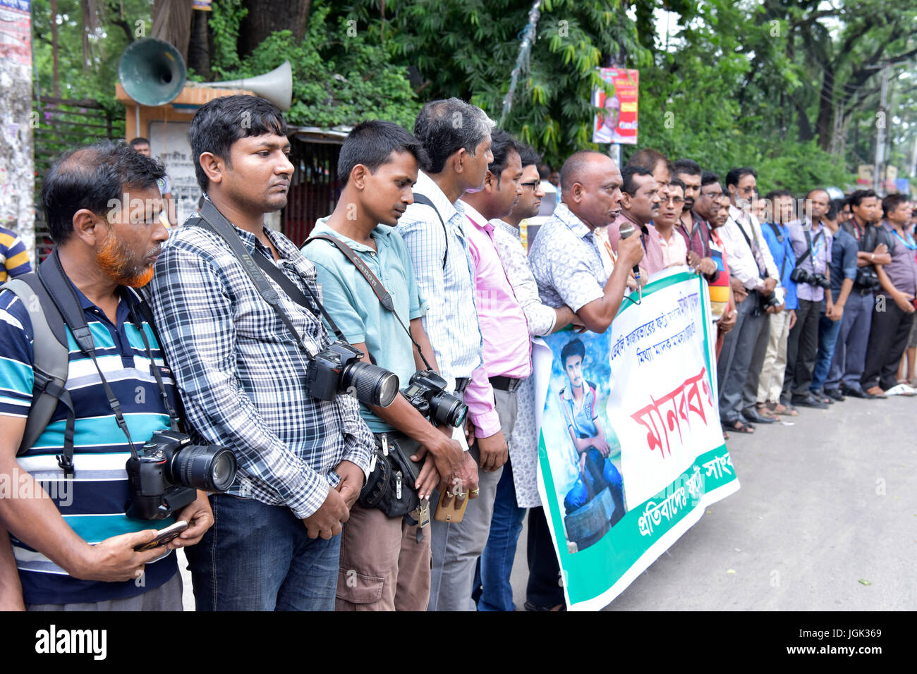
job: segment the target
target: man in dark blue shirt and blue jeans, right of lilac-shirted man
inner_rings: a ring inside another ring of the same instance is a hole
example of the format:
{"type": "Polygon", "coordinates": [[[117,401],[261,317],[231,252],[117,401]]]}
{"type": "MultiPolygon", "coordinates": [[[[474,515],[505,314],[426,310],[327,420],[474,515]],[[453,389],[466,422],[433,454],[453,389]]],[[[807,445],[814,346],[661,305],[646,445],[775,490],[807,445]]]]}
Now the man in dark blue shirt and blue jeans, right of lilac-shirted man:
{"type": "Polygon", "coordinates": [[[831,295],[834,298],[834,310],[831,314],[828,314],[827,310],[823,308],[822,315],[819,318],[818,358],[815,360],[815,369],[812,371],[810,390],[815,396],[823,394],[840,402],[845,400],[840,387],[829,388],[825,386],[824,381],[827,379],[828,371],[831,369],[837,336],[840,335],[841,326],[844,324],[844,305],[847,304],[847,298],[854,287],[856,251],[858,247],[856,238],[853,238],[841,228],[837,221],[837,215],[837,206],[832,204],[828,214],[823,219],[824,226],[833,235],[831,263],[828,268],[831,270],[831,295]],[[822,389],[823,386],[824,389],[822,389]]]}

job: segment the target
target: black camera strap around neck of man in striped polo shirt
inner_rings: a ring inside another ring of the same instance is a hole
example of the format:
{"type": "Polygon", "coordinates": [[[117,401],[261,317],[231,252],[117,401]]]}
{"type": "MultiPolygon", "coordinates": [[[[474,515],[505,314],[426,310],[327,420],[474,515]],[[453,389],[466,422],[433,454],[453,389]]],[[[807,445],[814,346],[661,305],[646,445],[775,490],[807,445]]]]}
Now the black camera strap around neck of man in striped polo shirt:
{"type": "MultiPolygon", "coordinates": [[[[83,315],[83,306],[80,304],[80,298],[77,296],[76,291],[73,290],[72,283],[67,278],[66,273],[63,271],[63,266],[61,265],[61,257],[58,254],[57,249],[54,249],[48,259],[41,263],[39,266],[38,275],[42,285],[44,285],[45,290],[48,292],[51,301],[61,313],[61,318],[63,319],[64,325],[70,328],[71,334],[73,339],[76,341],[77,346],[84,354],[93,360],[95,370],[97,370],[99,373],[99,380],[102,382],[102,388],[105,391],[105,397],[108,399],[108,405],[111,407],[112,413],[115,414],[115,422],[118,425],[118,428],[120,428],[124,435],[127,437],[127,446],[130,447],[131,456],[134,459],[138,459],[137,448],[134,447],[134,440],[130,436],[130,430],[127,427],[127,421],[124,418],[124,414],[121,412],[121,403],[118,401],[115,392],[112,391],[111,386],[105,379],[105,374],[103,374],[102,368],[99,366],[98,359],[95,358],[95,340],[93,338],[93,333],[86,323],[86,317],[83,315]],[[67,293],[70,296],[61,297],[61,293],[67,293]]],[[[169,403],[165,384],[162,382],[162,378],[159,374],[159,371],[156,369],[155,362],[153,361],[152,351],[149,348],[149,342],[143,332],[143,324],[138,320],[137,312],[130,302],[127,291],[122,293],[122,300],[127,302],[131,318],[135,326],[137,326],[140,337],[143,339],[144,347],[147,349],[147,355],[149,357],[151,369],[153,370],[153,376],[160,387],[162,399],[166,404],[166,410],[168,411],[171,419],[171,425],[173,425],[173,427],[177,427],[178,422],[175,418],[174,410],[169,403]]],[[[64,471],[64,474],[72,476],[75,473],[73,470],[73,436],[75,422],[71,423],[71,415],[75,417],[75,412],[71,405],[68,406],[71,407],[71,409],[70,413],[68,414],[67,427],[64,432],[63,453],[58,455],[57,459],[58,465],[61,467],[61,470],[64,471]]]]}

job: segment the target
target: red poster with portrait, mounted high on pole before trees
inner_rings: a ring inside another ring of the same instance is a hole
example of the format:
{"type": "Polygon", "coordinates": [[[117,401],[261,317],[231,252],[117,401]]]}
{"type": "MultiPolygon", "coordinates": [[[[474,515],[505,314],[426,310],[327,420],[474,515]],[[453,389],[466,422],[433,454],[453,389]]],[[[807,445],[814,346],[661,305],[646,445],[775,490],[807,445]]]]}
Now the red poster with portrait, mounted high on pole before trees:
{"type": "Polygon", "coordinates": [[[610,85],[611,93],[598,86],[592,91],[592,105],[602,108],[592,120],[592,142],[636,145],[640,72],[600,68],[599,75],[610,85]]]}

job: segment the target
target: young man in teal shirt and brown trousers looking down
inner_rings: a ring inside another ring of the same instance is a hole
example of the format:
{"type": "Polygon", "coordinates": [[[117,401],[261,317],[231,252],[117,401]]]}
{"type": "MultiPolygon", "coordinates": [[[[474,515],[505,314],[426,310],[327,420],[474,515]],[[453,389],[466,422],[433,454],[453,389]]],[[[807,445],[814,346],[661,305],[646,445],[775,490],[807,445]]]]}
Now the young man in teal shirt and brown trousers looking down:
{"type": "MultiPolygon", "coordinates": [[[[408,204],[411,187],[425,163],[423,146],[402,127],[370,121],[350,132],[341,148],[337,173],[343,185],[335,212],[316,223],[303,254],[315,264],[322,303],[344,337],[406,386],[425,363],[436,358],[421,317],[427,305],[414,279],[414,267],[394,225],[408,204]],[[385,309],[370,283],[331,241],[337,238],[370,269],[392,296],[394,313],[385,309]],[[396,317],[397,315],[397,317],[396,317]],[[411,335],[408,336],[408,331],[411,335]]],[[[421,499],[444,488],[463,464],[452,429],[436,428],[402,395],[388,407],[361,405],[364,421],[377,438],[402,440],[424,459],[416,487],[421,499]],[[406,436],[406,437],[405,437],[406,436]]],[[[407,485],[413,487],[414,485],[407,485]]],[[[477,485],[471,485],[475,488],[477,485]]],[[[337,610],[424,611],[430,593],[429,525],[416,511],[388,517],[355,503],[341,534],[337,610]]]]}

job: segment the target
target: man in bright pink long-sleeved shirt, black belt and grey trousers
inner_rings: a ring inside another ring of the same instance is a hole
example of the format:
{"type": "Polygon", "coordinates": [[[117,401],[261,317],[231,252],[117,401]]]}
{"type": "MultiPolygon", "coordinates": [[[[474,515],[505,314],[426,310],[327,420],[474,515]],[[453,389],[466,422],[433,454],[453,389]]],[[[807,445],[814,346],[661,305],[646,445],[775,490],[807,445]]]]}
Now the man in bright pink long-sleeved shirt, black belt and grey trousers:
{"type": "Polygon", "coordinates": [[[460,545],[464,553],[455,560],[461,568],[453,569],[449,579],[463,583],[469,611],[475,610],[470,594],[475,562],[487,544],[497,483],[509,458],[506,438],[515,425],[516,389],[532,373],[525,313],[506,277],[490,222],[509,215],[522,193],[519,184],[522,161],[508,133],[493,131],[491,139],[493,161],[488,166],[483,188],[479,192],[466,192],[460,199],[468,220],[465,233],[474,266],[475,304],[484,357],[483,365],[471,373],[465,390],[476,438],[470,452],[479,454],[480,492],[477,499],[469,502],[462,521],[449,528],[449,545],[460,545]]]}

